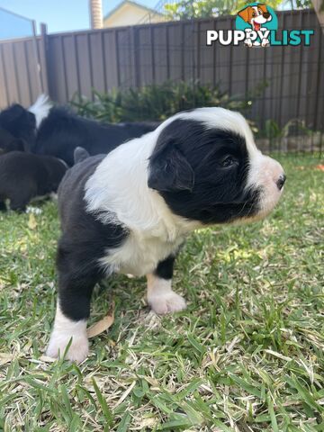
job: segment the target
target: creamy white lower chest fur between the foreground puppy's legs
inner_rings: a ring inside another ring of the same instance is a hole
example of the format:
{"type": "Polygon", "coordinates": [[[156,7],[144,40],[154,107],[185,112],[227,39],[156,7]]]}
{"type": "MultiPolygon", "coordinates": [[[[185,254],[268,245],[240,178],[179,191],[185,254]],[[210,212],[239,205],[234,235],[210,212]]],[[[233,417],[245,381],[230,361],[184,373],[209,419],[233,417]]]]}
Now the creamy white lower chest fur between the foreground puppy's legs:
{"type": "Polygon", "coordinates": [[[100,259],[107,274],[121,273],[135,276],[152,273],[160,261],[175,254],[184,243],[184,236],[169,242],[161,238],[140,238],[131,234],[121,247],[107,250],[100,259]]]}

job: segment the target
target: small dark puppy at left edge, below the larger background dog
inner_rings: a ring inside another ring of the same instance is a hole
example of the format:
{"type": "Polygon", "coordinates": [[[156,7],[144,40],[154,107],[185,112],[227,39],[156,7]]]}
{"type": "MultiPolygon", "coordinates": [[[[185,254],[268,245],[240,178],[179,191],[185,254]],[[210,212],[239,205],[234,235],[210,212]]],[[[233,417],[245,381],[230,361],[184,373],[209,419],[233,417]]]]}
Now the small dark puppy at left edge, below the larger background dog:
{"type": "Polygon", "coordinates": [[[25,211],[32,198],[57,192],[67,165],[57,157],[12,151],[0,157],[0,210],[25,211]]]}

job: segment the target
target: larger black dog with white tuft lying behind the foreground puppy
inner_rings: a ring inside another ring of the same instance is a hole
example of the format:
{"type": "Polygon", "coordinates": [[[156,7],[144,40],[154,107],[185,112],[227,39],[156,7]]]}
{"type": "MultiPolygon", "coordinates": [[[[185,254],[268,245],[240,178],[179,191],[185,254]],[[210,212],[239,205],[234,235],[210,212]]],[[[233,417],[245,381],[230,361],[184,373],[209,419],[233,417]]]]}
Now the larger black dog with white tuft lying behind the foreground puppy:
{"type": "Polygon", "coordinates": [[[159,124],[112,124],[85,119],[65,107],[53,106],[49,97],[41,94],[28,110],[16,103],[0,113],[0,154],[31,151],[58,157],[73,166],[76,147],[85,148],[93,156],[107,154],[125,140],[155,130],[159,124]]]}

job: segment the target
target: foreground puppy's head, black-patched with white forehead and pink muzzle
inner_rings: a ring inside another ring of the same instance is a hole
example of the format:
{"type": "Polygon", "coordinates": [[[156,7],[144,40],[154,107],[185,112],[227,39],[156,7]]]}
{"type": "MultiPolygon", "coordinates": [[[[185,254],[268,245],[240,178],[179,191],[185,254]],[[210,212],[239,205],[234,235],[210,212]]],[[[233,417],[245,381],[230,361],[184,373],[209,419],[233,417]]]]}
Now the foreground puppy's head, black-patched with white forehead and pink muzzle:
{"type": "Polygon", "coordinates": [[[278,202],[284,169],[257,149],[238,112],[200,108],[157,130],[148,187],[171,211],[204,224],[257,220],[278,202]]]}

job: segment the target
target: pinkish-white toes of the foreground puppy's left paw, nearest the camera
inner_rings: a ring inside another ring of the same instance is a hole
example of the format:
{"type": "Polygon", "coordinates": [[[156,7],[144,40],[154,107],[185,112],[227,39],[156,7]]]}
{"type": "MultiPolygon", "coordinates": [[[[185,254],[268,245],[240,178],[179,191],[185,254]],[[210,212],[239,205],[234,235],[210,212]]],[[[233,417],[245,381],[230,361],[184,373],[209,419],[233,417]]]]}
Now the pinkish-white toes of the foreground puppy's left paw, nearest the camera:
{"type": "Polygon", "coordinates": [[[71,362],[83,362],[89,354],[89,343],[86,335],[80,334],[62,335],[54,330],[49,339],[49,347],[46,351],[46,356],[53,358],[58,358],[58,356],[62,357],[71,338],[72,342],[65,358],[71,362]]]}

